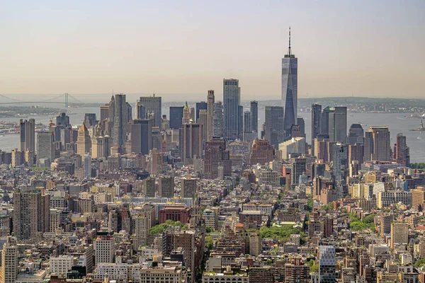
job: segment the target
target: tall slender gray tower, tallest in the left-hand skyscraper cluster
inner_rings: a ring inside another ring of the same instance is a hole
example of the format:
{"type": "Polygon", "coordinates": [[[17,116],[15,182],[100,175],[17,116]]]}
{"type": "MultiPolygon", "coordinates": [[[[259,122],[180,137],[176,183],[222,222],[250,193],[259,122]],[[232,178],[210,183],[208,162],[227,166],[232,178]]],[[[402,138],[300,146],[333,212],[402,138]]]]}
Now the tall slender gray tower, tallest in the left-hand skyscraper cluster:
{"type": "Polygon", "coordinates": [[[115,94],[115,116],[113,119],[113,144],[122,148],[125,144],[125,125],[128,122],[125,94],[115,94]]]}

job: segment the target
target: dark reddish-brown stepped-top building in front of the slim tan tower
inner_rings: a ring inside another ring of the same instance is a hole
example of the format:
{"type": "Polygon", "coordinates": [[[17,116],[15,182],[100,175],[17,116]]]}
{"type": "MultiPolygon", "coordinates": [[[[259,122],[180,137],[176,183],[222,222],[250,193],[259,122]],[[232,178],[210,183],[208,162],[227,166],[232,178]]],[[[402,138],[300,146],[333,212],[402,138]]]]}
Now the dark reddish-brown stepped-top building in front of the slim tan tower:
{"type": "Polygon", "coordinates": [[[229,151],[226,150],[226,141],[214,137],[205,143],[204,172],[206,179],[215,179],[218,175],[219,166],[222,166],[224,175],[232,173],[232,165],[229,160],[229,151]]]}

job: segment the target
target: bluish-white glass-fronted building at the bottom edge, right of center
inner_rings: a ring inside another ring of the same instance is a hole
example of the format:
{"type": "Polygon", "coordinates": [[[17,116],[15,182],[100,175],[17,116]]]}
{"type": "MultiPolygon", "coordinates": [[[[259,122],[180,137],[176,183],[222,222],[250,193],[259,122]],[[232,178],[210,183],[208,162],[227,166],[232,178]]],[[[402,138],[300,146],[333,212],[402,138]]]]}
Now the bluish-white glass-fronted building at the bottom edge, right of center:
{"type": "Polygon", "coordinates": [[[334,246],[319,246],[319,283],[336,282],[334,246]]]}

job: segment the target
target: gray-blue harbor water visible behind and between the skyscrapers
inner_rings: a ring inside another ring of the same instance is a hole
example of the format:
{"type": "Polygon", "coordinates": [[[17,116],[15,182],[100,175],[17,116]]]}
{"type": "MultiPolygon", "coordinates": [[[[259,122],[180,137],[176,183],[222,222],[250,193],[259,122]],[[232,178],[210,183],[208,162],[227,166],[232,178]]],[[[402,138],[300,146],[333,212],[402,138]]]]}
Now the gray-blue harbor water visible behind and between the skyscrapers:
{"type": "MultiPolygon", "coordinates": [[[[168,103],[167,103],[168,104],[168,103]]],[[[180,105],[181,103],[176,103],[180,105]]],[[[162,109],[162,114],[169,116],[169,105],[162,109]]],[[[133,108],[134,109],[134,108],[133,108]]],[[[72,125],[81,125],[84,120],[84,113],[96,113],[99,118],[101,115],[100,108],[69,108],[69,118],[72,125]]],[[[58,112],[59,114],[59,112],[58,112]]],[[[311,142],[311,113],[298,112],[299,116],[304,118],[305,133],[307,142],[311,142]]],[[[133,112],[134,115],[134,112],[133,112]]],[[[259,108],[259,131],[264,122],[264,108],[259,108]]],[[[410,160],[412,163],[425,162],[425,132],[410,132],[409,129],[419,127],[419,119],[409,118],[410,114],[403,113],[348,113],[348,128],[353,123],[361,123],[365,132],[369,126],[387,126],[390,129],[391,144],[395,144],[398,133],[407,137],[407,145],[410,148],[410,160]]],[[[47,125],[52,117],[35,116],[35,122],[42,122],[47,125]]],[[[3,121],[18,122],[20,118],[2,118],[3,121]]],[[[29,119],[29,118],[24,118],[29,119]]],[[[56,122],[56,117],[53,117],[56,122]]],[[[0,137],[0,149],[3,151],[11,151],[11,149],[19,148],[19,134],[6,134],[0,137]]]]}

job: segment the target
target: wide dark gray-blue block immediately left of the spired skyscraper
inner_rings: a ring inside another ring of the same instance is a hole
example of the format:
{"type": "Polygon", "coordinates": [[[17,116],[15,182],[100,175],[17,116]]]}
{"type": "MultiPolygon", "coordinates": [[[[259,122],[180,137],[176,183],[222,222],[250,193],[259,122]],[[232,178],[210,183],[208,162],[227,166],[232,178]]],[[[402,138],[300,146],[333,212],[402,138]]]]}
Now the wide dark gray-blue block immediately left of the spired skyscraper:
{"type": "MultiPolygon", "coordinates": [[[[292,125],[291,125],[292,126],[292,125]]],[[[278,149],[284,139],[283,107],[266,106],[266,121],[264,122],[264,137],[278,149]]]]}

